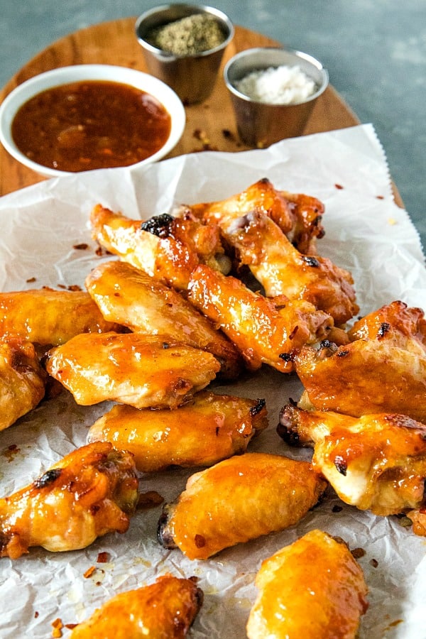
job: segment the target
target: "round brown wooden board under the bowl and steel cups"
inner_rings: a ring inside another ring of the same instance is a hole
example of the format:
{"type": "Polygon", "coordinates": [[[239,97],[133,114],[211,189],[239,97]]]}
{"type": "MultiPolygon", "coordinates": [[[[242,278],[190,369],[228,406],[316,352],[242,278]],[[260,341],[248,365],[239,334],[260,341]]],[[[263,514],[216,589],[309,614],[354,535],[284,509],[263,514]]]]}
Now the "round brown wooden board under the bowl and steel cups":
{"type": "MultiPolygon", "coordinates": [[[[104,22],[57,40],[11,78],[0,93],[0,102],[18,84],[55,67],[100,63],[146,71],[143,52],[134,33],[135,21],[136,18],[122,18],[104,22]]],[[[244,151],[249,148],[239,141],[236,133],[231,99],[222,76],[223,66],[232,55],[241,50],[279,44],[261,33],[236,26],[234,40],[226,48],[222,69],[211,97],[202,104],[186,107],[185,133],[168,157],[206,149],[244,151]]],[[[356,124],[359,124],[359,120],[335,89],[329,86],[317,100],[304,134],[344,129],[356,124]]],[[[14,160],[0,145],[0,195],[43,179],[45,178],[14,160]]]]}

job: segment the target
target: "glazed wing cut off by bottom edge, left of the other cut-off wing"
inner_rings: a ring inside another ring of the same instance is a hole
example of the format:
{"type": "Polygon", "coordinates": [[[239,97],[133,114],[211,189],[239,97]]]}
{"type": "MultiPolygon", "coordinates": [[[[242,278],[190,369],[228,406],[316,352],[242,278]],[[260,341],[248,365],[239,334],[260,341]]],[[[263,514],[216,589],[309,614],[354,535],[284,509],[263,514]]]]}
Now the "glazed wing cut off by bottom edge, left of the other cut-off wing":
{"type": "Polygon", "coordinates": [[[166,574],[109,599],[72,630],[70,639],[183,639],[202,600],[194,580],[166,574]]]}

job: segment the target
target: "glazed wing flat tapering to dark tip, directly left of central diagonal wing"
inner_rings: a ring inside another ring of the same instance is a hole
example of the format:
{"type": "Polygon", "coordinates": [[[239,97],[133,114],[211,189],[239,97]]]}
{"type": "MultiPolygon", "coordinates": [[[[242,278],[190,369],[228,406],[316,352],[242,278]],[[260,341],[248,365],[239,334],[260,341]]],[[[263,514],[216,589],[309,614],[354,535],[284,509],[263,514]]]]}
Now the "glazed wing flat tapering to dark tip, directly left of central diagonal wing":
{"type": "Polygon", "coordinates": [[[180,293],[144,271],[122,261],[104,262],[87,275],[86,287],[110,322],[209,351],[219,359],[224,378],[234,379],[241,371],[234,344],[180,293]]]}

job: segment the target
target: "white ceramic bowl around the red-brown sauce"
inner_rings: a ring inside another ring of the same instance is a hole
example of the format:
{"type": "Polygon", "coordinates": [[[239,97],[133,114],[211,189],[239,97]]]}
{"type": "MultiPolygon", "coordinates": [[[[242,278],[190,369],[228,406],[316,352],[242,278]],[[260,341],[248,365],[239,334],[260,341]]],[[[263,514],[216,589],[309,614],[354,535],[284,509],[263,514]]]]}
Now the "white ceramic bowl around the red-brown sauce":
{"type": "Polygon", "coordinates": [[[2,102],[0,106],[0,142],[13,158],[34,170],[36,173],[48,178],[70,175],[67,171],[48,168],[28,159],[13,142],[11,125],[18,109],[20,109],[28,99],[45,91],[45,89],[58,87],[61,84],[69,84],[70,82],[80,82],[82,80],[103,80],[120,82],[121,84],[131,84],[131,86],[136,87],[136,89],[141,89],[158,99],[170,114],[170,135],[163,147],[149,158],[133,164],[133,167],[153,163],[164,158],[165,155],[172,151],[182,137],[186,121],[185,108],[173,89],[170,89],[167,84],[158,80],[158,78],[148,73],[143,73],[142,71],[129,69],[128,67],[114,65],[73,65],[70,67],[59,67],[32,77],[30,80],[19,84],[18,87],[13,89],[6,99],[4,99],[4,102],[2,102]]]}

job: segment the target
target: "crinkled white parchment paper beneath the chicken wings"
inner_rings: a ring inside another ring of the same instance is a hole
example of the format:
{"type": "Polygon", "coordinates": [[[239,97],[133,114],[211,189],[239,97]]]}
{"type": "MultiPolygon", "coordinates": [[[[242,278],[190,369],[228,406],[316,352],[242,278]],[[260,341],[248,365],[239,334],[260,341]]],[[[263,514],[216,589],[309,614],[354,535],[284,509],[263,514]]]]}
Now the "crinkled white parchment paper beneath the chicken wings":
{"type": "MultiPolygon", "coordinates": [[[[320,254],[354,274],[362,315],[397,299],[425,308],[420,241],[407,212],[393,202],[386,158],[371,125],[282,141],[267,150],[194,153],[143,170],[72,175],[3,197],[0,290],[83,285],[100,259],[88,224],[97,202],[128,217],[150,217],[183,202],[222,200],[263,177],[275,187],[324,202],[326,235],[319,243],[320,254]],[[77,249],[82,243],[89,248],[77,249]],[[28,284],[30,278],[35,282],[28,284]]],[[[294,376],[262,369],[253,381],[217,390],[266,398],[270,425],[251,450],[309,456],[288,449],[275,432],[281,406],[300,396],[294,376]]],[[[84,444],[87,428],[108,409],[106,403],[79,407],[64,391],[0,432],[0,495],[30,483],[84,444]]],[[[173,469],[143,476],[141,490],[158,491],[171,501],[192,472],[173,469]]],[[[198,562],[160,547],[160,510],[139,511],[125,535],[107,535],[86,550],[54,554],[33,548],[14,562],[0,559],[1,638],[47,638],[56,618],[77,623],[119,591],[171,572],[196,575],[204,590],[192,637],[243,639],[261,561],[312,528],[343,537],[351,550],[365,551],[359,563],[370,606],[361,639],[426,637],[426,541],[403,528],[398,518],[379,518],[346,506],[330,490],[300,525],[198,562]],[[103,551],[109,561],[97,563],[103,551]],[[92,576],[84,577],[92,566],[92,576]]],[[[63,635],[68,633],[65,628],[63,635]]]]}

